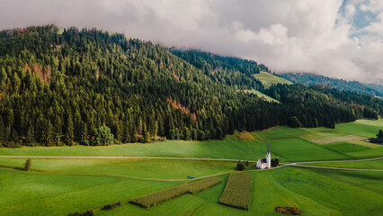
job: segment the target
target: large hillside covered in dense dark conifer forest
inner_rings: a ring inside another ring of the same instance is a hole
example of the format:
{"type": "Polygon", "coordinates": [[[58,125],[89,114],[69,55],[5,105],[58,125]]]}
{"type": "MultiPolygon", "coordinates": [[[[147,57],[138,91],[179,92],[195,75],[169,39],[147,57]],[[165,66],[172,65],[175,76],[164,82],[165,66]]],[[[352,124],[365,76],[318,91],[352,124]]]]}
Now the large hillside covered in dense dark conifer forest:
{"type": "Polygon", "coordinates": [[[95,29],[1,31],[0,144],[223,139],[283,124],[333,127],[383,110],[380,100],[359,94],[303,85],[263,90],[252,76],[262,70],[254,61],[169,51],[95,29]],[[238,91],[251,88],[282,103],[238,91]]]}

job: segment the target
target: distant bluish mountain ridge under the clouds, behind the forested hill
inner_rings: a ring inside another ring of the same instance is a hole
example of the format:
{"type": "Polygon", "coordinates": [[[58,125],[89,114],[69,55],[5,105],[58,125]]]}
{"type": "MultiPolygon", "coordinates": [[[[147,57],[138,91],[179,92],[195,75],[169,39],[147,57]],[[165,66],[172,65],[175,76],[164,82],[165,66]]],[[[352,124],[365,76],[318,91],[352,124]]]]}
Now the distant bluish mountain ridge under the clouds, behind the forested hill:
{"type": "Polygon", "coordinates": [[[330,78],[327,76],[309,74],[309,73],[286,73],[281,74],[281,77],[291,81],[294,84],[302,85],[325,85],[331,88],[336,88],[340,91],[349,91],[357,94],[368,94],[373,96],[383,96],[383,86],[377,85],[380,90],[373,88],[373,85],[363,85],[357,81],[346,81],[343,79],[330,78]]]}

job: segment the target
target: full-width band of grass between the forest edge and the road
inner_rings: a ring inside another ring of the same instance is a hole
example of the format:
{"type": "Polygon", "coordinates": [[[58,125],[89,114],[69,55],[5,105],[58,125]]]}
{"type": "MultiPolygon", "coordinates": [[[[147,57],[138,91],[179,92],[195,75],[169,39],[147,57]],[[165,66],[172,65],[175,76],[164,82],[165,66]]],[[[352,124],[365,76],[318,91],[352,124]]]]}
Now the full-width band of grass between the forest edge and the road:
{"type": "Polygon", "coordinates": [[[267,145],[271,144],[274,156],[281,157],[282,160],[346,159],[379,155],[383,146],[365,143],[364,138],[359,136],[373,137],[381,128],[383,128],[382,119],[359,120],[337,124],[334,130],[294,129],[281,126],[255,132],[236,132],[224,140],[167,140],[150,144],[135,143],[107,147],[0,148],[0,155],[211,157],[256,160],[264,157],[267,145]],[[354,140],[350,140],[350,136],[354,140]],[[346,140],[342,140],[344,138],[346,140]],[[318,144],[321,139],[327,144],[318,144]],[[358,147],[355,148],[355,145],[358,147]]]}

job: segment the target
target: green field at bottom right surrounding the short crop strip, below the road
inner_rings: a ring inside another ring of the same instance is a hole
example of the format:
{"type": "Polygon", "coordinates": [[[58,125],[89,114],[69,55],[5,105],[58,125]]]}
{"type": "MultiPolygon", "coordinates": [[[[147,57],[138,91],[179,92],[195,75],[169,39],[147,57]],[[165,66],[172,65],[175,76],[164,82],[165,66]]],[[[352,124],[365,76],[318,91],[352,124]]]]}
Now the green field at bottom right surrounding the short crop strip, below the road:
{"type": "MultiPolygon", "coordinates": [[[[249,211],[219,205],[224,184],[184,195],[149,210],[129,203],[96,215],[280,215],[274,208],[298,207],[305,215],[379,215],[383,211],[382,174],[285,167],[254,175],[249,211]],[[316,185],[313,187],[313,185],[316,185]],[[345,196],[344,194],[348,194],[345,196]]],[[[224,181],[227,175],[221,176],[224,181]]]]}

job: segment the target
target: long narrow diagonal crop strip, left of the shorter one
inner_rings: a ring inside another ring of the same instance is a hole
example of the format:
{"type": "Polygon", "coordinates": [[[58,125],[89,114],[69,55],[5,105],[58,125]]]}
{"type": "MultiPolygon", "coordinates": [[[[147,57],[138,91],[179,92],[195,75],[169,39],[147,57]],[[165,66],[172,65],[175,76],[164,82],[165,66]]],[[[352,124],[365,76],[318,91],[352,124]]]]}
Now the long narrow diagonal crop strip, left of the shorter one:
{"type": "Polygon", "coordinates": [[[182,196],[183,194],[186,194],[186,193],[191,193],[191,194],[200,193],[201,191],[207,190],[210,187],[215,186],[221,182],[222,180],[220,178],[213,177],[206,180],[194,182],[191,184],[181,184],[178,186],[165,189],[163,191],[143,195],[129,202],[148,209],[162,202],[173,200],[174,198],[178,196],[182,196]]]}

